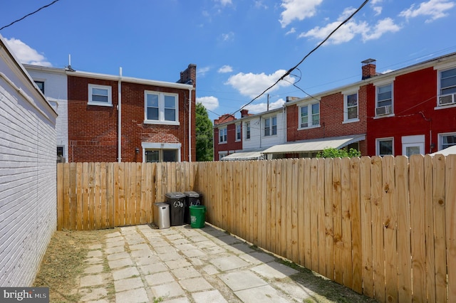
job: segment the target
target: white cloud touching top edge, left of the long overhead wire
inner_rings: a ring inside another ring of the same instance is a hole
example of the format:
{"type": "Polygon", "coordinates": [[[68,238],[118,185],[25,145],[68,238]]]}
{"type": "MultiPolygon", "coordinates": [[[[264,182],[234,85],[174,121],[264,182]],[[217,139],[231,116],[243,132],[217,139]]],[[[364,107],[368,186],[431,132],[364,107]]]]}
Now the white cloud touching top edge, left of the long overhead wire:
{"type": "Polygon", "coordinates": [[[289,23],[298,19],[309,18],[316,14],[316,6],[320,5],[323,0],[282,0],[280,4],[285,10],[282,11],[281,23],[282,28],[285,28],[289,23]]]}

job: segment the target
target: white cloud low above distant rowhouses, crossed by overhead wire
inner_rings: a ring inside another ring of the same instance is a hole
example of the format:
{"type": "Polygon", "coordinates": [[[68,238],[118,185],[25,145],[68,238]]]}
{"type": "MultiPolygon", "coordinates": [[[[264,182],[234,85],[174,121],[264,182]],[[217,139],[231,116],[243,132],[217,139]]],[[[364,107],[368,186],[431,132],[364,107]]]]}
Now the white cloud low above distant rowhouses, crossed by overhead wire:
{"type": "MultiPolygon", "coordinates": [[[[276,83],[281,76],[286,73],[286,70],[277,70],[275,73],[271,75],[266,75],[265,73],[261,74],[254,74],[254,73],[238,73],[236,75],[232,75],[227,80],[227,85],[231,85],[234,89],[238,90],[244,96],[249,97],[257,97],[261,92],[266,90],[269,86],[276,83]]],[[[280,81],[277,83],[271,90],[274,91],[278,90],[279,87],[286,87],[294,83],[294,78],[290,75],[287,75],[284,78],[285,81],[280,81]]]]}

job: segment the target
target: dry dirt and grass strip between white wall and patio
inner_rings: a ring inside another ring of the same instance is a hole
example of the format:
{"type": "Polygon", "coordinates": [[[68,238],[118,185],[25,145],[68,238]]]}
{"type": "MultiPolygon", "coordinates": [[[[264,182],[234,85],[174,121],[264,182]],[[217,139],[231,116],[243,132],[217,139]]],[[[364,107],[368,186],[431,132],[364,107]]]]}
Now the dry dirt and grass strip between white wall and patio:
{"type": "Polygon", "coordinates": [[[104,235],[116,229],[56,231],[41,261],[34,287],[49,287],[50,302],[79,302],[78,277],[88,266],[88,247],[103,243],[104,235]]]}

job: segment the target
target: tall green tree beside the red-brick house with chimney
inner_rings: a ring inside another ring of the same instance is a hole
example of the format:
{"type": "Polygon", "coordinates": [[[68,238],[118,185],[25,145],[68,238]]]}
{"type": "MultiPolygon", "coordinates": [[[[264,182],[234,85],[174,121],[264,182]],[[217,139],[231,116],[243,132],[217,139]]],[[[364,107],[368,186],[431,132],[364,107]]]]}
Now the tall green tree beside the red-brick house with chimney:
{"type": "Polygon", "coordinates": [[[214,147],[212,145],[212,121],[207,115],[207,110],[201,103],[197,103],[196,135],[197,135],[197,161],[212,161],[214,147]]]}

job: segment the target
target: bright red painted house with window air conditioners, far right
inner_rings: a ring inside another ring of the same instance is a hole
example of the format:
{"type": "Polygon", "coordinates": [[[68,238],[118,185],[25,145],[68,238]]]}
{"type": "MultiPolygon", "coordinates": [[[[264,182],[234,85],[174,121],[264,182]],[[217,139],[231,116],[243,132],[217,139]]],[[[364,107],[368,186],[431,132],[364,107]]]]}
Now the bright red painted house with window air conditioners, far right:
{"type": "Polygon", "coordinates": [[[456,53],[367,81],[369,155],[430,154],[456,144],[456,53]]]}

